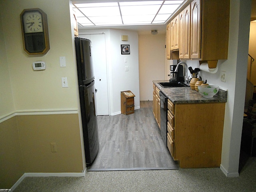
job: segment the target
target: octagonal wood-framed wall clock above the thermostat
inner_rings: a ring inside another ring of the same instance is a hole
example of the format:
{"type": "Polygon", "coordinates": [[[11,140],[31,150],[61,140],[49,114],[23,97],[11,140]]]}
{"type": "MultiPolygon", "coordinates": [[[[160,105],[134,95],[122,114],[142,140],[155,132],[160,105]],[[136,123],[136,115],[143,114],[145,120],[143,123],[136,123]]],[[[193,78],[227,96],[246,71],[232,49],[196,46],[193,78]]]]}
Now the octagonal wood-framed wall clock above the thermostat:
{"type": "Polygon", "coordinates": [[[46,14],[39,8],[24,9],[20,14],[24,50],[46,54],[50,50],[46,14]]]}

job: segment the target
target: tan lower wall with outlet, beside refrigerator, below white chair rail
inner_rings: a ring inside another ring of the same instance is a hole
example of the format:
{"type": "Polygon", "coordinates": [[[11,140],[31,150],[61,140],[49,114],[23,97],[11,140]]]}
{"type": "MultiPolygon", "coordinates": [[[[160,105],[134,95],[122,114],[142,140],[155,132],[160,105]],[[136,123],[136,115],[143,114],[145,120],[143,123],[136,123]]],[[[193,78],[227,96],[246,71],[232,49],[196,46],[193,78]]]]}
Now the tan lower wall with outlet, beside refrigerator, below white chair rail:
{"type": "Polygon", "coordinates": [[[25,172],[82,172],[78,114],[17,116],[17,125],[25,172]]]}

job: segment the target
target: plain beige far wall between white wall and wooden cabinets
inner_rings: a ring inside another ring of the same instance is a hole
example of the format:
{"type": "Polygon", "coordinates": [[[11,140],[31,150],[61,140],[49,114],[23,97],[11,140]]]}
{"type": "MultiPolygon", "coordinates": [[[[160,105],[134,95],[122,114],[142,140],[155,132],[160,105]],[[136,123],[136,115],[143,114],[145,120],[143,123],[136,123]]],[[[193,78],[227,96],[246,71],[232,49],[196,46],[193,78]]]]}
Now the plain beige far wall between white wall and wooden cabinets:
{"type": "Polygon", "coordinates": [[[165,34],[139,36],[140,100],[153,100],[152,81],[164,80],[165,34]]]}

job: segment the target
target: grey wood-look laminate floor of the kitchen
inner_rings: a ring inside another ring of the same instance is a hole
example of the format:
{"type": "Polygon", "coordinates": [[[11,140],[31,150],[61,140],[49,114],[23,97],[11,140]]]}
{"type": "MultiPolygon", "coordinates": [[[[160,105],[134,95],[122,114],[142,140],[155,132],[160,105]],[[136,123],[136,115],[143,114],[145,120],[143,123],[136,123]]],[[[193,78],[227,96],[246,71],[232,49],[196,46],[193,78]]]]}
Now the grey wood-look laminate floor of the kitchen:
{"type": "Polygon", "coordinates": [[[98,116],[99,152],[88,171],[178,169],[152,112],[141,101],[134,114],[98,116]]]}

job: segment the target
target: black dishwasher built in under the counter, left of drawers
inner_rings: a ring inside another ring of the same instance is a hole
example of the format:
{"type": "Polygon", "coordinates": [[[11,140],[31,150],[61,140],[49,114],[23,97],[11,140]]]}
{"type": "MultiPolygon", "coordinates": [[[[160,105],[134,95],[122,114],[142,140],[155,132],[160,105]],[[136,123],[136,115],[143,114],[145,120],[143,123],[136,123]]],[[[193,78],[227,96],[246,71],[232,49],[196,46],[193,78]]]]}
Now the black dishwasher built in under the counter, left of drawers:
{"type": "Polygon", "coordinates": [[[167,97],[160,91],[160,123],[161,123],[161,136],[164,144],[167,147],[167,97]]]}

